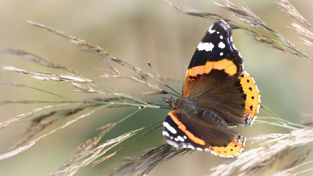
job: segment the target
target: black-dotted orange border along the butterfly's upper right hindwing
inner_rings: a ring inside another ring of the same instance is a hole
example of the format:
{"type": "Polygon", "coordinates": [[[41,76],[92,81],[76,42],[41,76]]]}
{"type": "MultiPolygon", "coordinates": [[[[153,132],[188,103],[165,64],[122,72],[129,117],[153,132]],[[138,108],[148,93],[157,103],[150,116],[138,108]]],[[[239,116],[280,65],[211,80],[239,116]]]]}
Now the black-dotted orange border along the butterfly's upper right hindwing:
{"type": "Polygon", "coordinates": [[[244,93],[247,95],[244,115],[247,117],[247,125],[252,125],[254,118],[259,114],[261,106],[260,92],[254,79],[246,71],[244,71],[243,77],[239,77],[239,79],[244,93]]]}

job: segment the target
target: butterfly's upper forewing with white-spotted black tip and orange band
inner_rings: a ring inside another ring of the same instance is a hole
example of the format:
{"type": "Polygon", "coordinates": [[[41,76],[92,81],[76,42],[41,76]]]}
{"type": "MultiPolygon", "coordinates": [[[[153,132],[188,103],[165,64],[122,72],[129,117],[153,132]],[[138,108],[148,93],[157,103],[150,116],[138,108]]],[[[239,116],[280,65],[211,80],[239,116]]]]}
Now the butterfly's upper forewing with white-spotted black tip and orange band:
{"type": "Polygon", "coordinates": [[[221,83],[238,78],[243,59],[232,41],[232,29],[220,20],[199,43],[189,63],[182,97],[196,97],[221,83]]]}

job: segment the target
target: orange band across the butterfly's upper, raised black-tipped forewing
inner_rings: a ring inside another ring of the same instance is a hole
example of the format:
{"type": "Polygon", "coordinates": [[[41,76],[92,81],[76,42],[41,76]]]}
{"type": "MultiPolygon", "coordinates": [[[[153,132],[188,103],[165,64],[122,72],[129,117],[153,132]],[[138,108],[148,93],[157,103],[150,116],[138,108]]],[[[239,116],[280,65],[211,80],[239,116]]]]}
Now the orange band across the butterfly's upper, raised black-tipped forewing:
{"type": "Polygon", "coordinates": [[[186,76],[196,77],[197,74],[210,73],[212,69],[225,70],[225,72],[232,76],[237,73],[237,67],[233,61],[223,59],[219,61],[207,61],[205,65],[195,66],[187,70],[186,76]]]}

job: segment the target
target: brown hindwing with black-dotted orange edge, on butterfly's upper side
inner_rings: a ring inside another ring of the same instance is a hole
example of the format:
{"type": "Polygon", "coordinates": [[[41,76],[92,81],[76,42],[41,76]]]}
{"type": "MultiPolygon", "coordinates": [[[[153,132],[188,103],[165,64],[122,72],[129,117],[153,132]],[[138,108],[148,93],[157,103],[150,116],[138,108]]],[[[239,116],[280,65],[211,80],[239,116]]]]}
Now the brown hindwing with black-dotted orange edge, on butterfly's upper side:
{"type": "Polygon", "coordinates": [[[203,93],[197,103],[212,109],[226,123],[240,126],[252,125],[261,104],[258,88],[245,71],[238,78],[203,93]]]}

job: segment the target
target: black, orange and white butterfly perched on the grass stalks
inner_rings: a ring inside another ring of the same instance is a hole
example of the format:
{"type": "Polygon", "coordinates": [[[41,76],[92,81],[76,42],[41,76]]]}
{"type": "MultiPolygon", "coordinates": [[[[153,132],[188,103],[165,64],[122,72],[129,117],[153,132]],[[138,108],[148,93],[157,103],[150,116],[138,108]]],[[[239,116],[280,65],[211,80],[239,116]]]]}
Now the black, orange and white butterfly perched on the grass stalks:
{"type": "Polygon", "coordinates": [[[235,157],[246,138],[230,130],[250,126],[259,113],[260,93],[244,71],[243,58],[223,20],[215,22],[199,43],[189,63],[181,98],[163,98],[173,108],[162,134],[176,148],[208,151],[235,157]]]}

